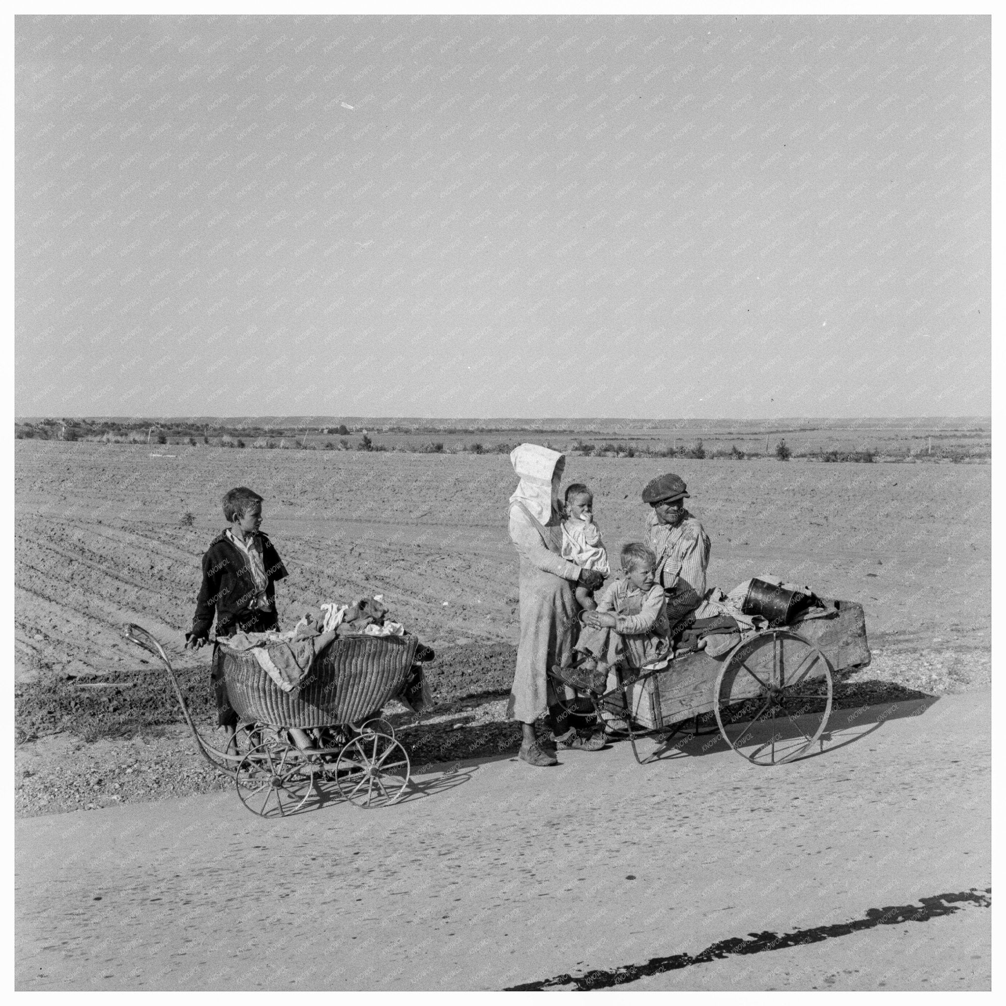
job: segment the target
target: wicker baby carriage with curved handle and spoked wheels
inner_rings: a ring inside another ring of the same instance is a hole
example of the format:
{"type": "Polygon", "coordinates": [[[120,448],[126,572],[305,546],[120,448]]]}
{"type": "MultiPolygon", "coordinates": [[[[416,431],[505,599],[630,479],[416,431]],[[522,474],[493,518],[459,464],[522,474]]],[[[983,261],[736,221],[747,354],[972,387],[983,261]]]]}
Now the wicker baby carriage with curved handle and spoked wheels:
{"type": "Polygon", "coordinates": [[[167,668],[199,752],[233,779],[237,796],[253,813],[295,813],[312,794],[321,797],[324,782],[334,782],[359,807],[393,804],[404,793],[408,752],[380,712],[422,674],[414,636],[336,639],[316,656],[310,677],[296,693],[281,690],[254,654],[229,650],[221,642],[227,695],[240,725],[227,749],[219,750],[196,729],[161,644],[140,626],[128,625],[125,635],[167,668]],[[295,744],[293,727],[309,733],[315,746],[295,744]]]}

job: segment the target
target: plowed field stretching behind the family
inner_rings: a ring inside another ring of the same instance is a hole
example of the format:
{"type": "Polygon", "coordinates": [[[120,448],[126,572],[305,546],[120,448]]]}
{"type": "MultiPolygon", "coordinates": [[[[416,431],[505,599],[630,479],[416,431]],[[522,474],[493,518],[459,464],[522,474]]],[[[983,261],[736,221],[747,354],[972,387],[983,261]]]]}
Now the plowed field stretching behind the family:
{"type": "MultiPolygon", "coordinates": [[[[138,666],[127,621],[178,652],[234,485],[266,497],[264,529],[291,571],[278,589],[285,627],[369,593],[435,646],[516,641],[506,457],[172,450],[17,443],[18,679],[138,666]]],[[[639,492],[664,466],[688,482],[712,538],[710,583],[771,572],[859,601],[874,644],[986,636],[990,468],[570,457],[566,478],[594,489],[611,552],[641,536],[639,492]]]]}

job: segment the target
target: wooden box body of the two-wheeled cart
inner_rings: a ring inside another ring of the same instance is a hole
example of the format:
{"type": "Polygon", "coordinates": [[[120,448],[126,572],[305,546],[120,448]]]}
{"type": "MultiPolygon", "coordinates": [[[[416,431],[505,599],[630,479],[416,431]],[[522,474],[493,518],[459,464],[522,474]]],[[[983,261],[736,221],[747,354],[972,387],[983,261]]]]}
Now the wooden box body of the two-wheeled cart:
{"type": "MultiPolygon", "coordinates": [[[[870,650],[862,606],[851,601],[836,601],[835,606],[838,609],[836,616],[804,619],[786,628],[820,647],[832,670],[865,667],[870,662],[870,650]]],[[[699,650],[671,661],[666,671],[653,674],[628,689],[631,715],[640,726],[652,730],[711,712],[716,677],[728,656],[729,651],[712,657],[699,650]]],[[[766,655],[761,654],[760,659],[767,659],[766,655]]],[[[758,667],[752,670],[758,671],[758,667]]],[[[810,678],[818,676],[816,671],[809,675],[810,678]]],[[[751,695],[757,691],[754,685],[751,695]]],[[[740,697],[735,690],[733,695],[740,697]]]]}

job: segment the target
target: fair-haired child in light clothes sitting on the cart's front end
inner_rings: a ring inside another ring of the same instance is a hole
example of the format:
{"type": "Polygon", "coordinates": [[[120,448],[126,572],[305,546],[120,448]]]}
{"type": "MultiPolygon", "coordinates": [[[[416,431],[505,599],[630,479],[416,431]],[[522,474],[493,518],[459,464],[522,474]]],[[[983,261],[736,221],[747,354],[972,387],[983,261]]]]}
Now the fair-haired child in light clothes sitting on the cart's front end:
{"type": "Polygon", "coordinates": [[[556,669],[562,680],[601,692],[611,665],[637,668],[670,655],[667,601],[656,568],[657,556],[642,542],[622,549],[622,575],[605,589],[597,611],[584,613],[575,646],[579,660],[556,669]]]}

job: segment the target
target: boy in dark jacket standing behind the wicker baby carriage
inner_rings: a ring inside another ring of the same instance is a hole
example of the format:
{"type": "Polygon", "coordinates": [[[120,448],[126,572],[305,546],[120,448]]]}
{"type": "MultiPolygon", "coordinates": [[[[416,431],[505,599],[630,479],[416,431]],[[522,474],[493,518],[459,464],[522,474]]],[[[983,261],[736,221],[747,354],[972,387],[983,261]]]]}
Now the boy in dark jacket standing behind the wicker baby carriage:
{"type": "MultiPolygon", "coordinates": [[[[279,627],[276,581],[288,575],[273,542],[260,530],[263,497],[245,486],[223,496],[223,516],[230,526],[209,544],[202,557],[202,586],[195,604],[192,631],[185,634],[186,649],[209,642],[216,616],[216,638],[237,632],[268,632],[279,627]]],[[[213,647],[210,680],[216,694],[217,723],[232,733],[237,713],[227,698],[219,647],[213,647]]]]}

